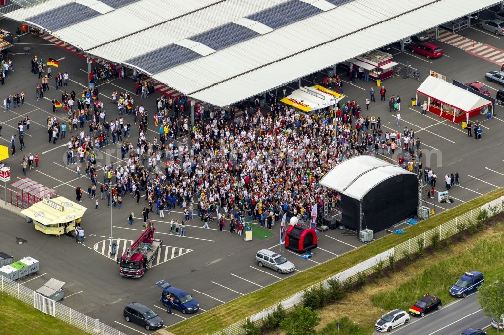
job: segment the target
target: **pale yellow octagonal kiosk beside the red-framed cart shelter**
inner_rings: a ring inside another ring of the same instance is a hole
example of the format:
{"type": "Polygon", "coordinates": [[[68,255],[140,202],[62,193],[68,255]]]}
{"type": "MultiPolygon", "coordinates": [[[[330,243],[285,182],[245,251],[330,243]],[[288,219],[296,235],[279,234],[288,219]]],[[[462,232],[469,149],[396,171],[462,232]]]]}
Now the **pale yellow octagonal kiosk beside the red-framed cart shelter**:
{"type": "Polygon", "coordinates": [[[64,235],[80,222],[86,207],[64,197],[43,198],[42,201],[21,211],[33,220],[35,229],[49,235],[64,235]]]}

